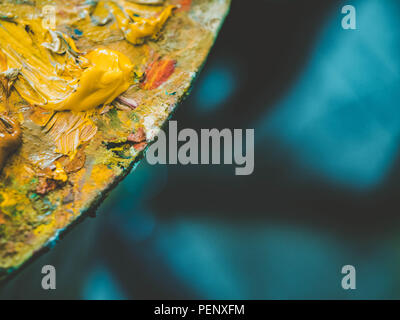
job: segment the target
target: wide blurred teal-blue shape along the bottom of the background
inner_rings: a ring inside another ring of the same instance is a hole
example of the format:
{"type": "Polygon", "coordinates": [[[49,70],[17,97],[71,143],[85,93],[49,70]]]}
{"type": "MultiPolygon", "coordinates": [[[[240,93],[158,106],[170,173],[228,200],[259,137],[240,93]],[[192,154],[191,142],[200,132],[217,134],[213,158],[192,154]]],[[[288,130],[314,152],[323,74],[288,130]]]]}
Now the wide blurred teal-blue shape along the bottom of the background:
{"type": "Polygon", "coordinates": [[[204,299],[384,299],[396,274],[390,250],[366,255],[329,234],[288,225],[181,221],[160,229],[156,250],[204,299]],[[356,290],[341,287],[344,265],[356,290]]]}

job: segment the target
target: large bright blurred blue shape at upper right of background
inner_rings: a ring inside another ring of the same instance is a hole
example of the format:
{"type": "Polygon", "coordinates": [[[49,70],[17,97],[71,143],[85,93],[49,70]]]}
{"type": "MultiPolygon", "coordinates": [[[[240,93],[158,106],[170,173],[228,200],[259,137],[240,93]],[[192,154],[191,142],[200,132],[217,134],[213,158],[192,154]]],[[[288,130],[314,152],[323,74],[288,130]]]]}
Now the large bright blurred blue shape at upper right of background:
{"type": "Polygon", "coordinates": [[[357,30],[338,7],[290,93],[261,123],[293,161],[326,179],[368,189],[400,144],[400,3],[353,1],[357,30]]]}

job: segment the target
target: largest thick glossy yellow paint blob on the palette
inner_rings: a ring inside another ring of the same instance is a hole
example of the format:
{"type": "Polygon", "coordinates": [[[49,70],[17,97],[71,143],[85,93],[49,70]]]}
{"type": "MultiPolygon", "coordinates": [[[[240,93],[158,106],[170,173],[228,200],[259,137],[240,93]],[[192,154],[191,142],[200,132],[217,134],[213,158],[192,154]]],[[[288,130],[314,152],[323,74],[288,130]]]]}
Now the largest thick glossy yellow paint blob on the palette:
{"type": "Polygon", "coordinates": [[[82,54],[70,37],[37,20],[2,22],[0,48],[8,68],[20,72],[18,93],[45,109],[92,110],[132,84],[133,64],[124,54],[102,48],[82,54]]]}

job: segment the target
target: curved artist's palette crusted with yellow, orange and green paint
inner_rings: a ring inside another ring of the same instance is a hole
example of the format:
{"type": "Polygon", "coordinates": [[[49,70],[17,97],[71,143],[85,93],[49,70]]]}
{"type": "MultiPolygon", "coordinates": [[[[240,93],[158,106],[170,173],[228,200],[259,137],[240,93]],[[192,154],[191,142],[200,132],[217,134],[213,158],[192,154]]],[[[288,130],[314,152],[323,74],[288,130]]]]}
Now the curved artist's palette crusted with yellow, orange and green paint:
{"type": "Polygon", "coordinates": [[[159,2],[0,4],[0,113],[22,131],[17,151],[0,154],[0,279],[95,210],[140,160],[230,1],[159,2]],[[40,24],[45,5],[56,8],[51,32],[40,24]]]}

